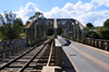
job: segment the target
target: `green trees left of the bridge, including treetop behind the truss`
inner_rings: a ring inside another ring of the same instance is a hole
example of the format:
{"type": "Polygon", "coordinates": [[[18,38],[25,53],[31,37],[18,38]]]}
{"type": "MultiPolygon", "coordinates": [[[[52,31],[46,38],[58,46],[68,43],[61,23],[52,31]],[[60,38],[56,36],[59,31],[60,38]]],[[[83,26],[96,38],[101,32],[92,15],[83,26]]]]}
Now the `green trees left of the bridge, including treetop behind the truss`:
{"type": "Polygon", "coordinates": [[[25,37],[25,27],[35,19],[46,19],[41,12],[36,12],[33,16],[23,24],[21,17],[16,17],[13,12],[4,11],[0,14],[0,41],[1,40],[12,40],[16,38],[25,37]]]}

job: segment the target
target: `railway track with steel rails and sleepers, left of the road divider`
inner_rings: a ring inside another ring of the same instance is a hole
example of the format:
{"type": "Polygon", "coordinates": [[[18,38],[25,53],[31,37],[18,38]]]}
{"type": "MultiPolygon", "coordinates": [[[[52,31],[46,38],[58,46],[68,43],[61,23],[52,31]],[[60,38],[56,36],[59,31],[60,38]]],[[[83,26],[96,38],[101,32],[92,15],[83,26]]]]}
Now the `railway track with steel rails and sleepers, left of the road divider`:
{"type": "Polygon", "coordinates": [[[55,65],[51,39],[34,47],[0,67],[0,72],[41,72],[44,65],[55,65]],[[52,49],[51,49],[52,48],[52,49]]]}

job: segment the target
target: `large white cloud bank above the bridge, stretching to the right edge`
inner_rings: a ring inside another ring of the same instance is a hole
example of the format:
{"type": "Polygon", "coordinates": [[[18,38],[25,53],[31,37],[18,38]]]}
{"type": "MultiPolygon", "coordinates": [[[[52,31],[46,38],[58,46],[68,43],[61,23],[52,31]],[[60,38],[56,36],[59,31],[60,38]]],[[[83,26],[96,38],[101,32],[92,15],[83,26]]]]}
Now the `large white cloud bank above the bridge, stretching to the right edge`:
{"type": "Polygon", "coordinates": [[[47,17],[74,17],[82,22],[84,25],[88,22],[93,23],[95,26],[102,26],[105,20],[108,19],[109,11],[95,11],[97,7],[93,3],[83,3],[78,1],[76,4],[66,3],[62,9],[58,7],[52,8],[50,12],[45,12],[47,17]],[[49,15],[49,16],[48,16],[49,15]]]}

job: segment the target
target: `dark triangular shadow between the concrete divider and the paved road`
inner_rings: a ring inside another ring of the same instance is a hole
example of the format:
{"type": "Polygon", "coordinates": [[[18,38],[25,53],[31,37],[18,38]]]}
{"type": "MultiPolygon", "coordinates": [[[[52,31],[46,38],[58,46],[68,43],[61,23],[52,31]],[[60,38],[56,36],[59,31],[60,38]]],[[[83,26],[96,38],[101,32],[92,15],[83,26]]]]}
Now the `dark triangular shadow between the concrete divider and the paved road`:
{"type": "Polygon", "coordinates": [[[69,58],[62,50],[62,72],[76,72],[69,58]]]}

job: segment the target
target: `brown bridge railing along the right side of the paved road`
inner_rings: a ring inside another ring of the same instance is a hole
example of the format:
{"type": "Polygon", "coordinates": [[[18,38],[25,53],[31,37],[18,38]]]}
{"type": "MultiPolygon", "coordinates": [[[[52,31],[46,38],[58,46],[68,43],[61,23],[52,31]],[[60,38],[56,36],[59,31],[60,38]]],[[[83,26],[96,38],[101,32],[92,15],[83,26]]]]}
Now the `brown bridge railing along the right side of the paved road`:
{"type": "Polygon", "coordinates": [[[106,39],[94,39],[94,38],[82,38],[82,37],[78,38],[76,37],[76,39],[74,38],[68,38],[68,39],[109,51],[109,40],[106,39]]]}

